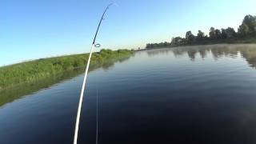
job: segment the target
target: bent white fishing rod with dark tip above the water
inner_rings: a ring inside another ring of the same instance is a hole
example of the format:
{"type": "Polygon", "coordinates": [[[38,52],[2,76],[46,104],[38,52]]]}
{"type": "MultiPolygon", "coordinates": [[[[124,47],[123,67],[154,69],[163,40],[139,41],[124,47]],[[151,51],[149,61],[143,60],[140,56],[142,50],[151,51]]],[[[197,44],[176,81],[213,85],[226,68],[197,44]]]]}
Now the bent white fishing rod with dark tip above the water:
{"type": "MultiPolygon", "coordinates": [[[[110,8],[110,6],[113,5],[113,3],[110,3],[108,6],[106,6],[106,9],[104,10],[103,14],[102,14],[102,18],[101,20],[98,22],[98,28],[96,30],[96,34],[94,35],[94,41],[92,43],[92,46],[90,48],[90,54],[89,54],[89,58],[87,61],[87,65],[86,65],[86,73],[85,76],[83,78],[83,82],[82,82],[82,90],[81,90],[81,94],[80,94],[80,98],[79,98],[79,103],[78,103],[78,114],[77,114],[77,118],[76,118],[76,122],[75,122],[75,129],[74,129],[74,144],[77,144],[78,142],[78,129],[79,129],[79,121],[80,121],[80,114],[81,114],[81,108],[82,108],[82,99],[83,99],[83,94],[86,88],[86,78],[87,78],[87,74],[88,74],[88,70],[89,70],[89,66],[90,66],[90,58],[91,55],[94,51],[94,47],[99,47],[99,44],[95,44],[97,35],[98,35],[98,29],[102,24],[102,20],[104,19],[104,16],[106,14],[106,10],[108,10],[110,8]]],[[[97,143],[97,141],[96,141],[97,143]]]]}

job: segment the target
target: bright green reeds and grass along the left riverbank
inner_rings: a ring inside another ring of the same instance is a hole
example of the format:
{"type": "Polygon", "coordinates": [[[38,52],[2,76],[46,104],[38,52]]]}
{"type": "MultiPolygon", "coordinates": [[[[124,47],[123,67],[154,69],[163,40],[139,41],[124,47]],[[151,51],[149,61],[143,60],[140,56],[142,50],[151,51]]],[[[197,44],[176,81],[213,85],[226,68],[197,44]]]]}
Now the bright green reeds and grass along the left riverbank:
{"type": "MultiPolygon", "coordinates": [[[[104,66],[104,63],[130,57],[130,50],[105,50],[95,52],[90,61],[90,69],[104,66]]],[[[23,82],[34,82],[65,70],[86,66],[89,54],[73,54],[54,58],[41,58],[0,67],[0,90],[23,82]]]]}

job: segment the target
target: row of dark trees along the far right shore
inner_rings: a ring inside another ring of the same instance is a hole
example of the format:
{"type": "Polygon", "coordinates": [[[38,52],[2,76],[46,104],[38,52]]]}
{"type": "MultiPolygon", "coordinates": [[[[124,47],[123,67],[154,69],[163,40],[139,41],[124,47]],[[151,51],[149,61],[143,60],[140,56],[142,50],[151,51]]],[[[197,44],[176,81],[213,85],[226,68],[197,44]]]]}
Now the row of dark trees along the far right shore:
{"type": "Polygon", "coordinates": [[[187,31],[185,38],[175,37],[172,38],[171,42],[148,43],[146,44],[146,48],[217,43],[256,43],[256,16],[246,15],[237,31],[231,27],[222,28],[221,30],[211,27],[209,35],[204,34],[202,30],[198,30],[197,35],[192,34],[191,31],[187,31]]]}

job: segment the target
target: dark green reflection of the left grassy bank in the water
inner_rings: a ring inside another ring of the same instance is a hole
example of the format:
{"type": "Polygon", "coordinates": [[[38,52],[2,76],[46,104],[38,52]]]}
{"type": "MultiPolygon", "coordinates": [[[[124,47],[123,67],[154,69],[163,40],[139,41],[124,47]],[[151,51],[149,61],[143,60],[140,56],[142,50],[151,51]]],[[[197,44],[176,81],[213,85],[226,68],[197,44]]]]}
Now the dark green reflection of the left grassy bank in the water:
{"type": "MultiPolygon", "coordinates": [[[[129,59],[129,56],[114,58],[106,60],[99,65],[91,65],[90,71],[102,67],[103,69],[109,69],[110,66],[114,66],[115,62],[124,62],[129,59]]],[[[53,86],[56,83],[66,81],[70,78],[78,76],[78,74],[84,73],[84,67],[80,67],[74,70],[66,70],[62,73],[55,74],[49,78],[43,78],[36,82],[26,82],[21,83],[16,86],[8,87],[6,89],[0,90],[0,106],[8,102],[13,102],[15,99],[21,98],[24,95],[33,94],[38,90],[46,89],[50,86],[53,86]]]]}

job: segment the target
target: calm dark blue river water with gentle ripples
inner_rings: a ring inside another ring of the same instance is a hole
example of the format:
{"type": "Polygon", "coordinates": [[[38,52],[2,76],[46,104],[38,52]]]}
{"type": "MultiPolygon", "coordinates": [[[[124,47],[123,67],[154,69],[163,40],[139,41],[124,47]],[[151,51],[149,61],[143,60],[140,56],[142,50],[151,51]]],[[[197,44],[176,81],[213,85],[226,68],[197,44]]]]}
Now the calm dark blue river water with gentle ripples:
{"type": "MultiPolygon", "coordinates": [[[[256,46],[141,51],[90,72],[78,143],[256,143],[256,46]]],[[[1,144],[70,144],[82,74],[0,107],[1,144]]],[[[3,95],[0,95],[3,97],[3,95]]]]}

